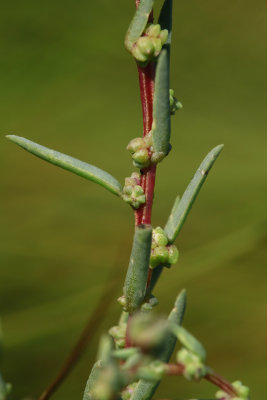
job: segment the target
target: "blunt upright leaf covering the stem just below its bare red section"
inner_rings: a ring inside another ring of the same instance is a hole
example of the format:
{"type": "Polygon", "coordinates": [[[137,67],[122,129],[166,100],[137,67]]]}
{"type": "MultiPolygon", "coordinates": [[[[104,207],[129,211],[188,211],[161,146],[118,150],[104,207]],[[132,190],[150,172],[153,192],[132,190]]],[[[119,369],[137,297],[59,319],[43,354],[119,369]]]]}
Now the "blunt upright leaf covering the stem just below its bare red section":
{"type": "Polygon", "coordinates": [[[150,226],[144,225],[136,228],[124,284],[126,309],[129,312],[133,312],[140,307],[145,297],[151,238],[152,229],[150,226]]]}

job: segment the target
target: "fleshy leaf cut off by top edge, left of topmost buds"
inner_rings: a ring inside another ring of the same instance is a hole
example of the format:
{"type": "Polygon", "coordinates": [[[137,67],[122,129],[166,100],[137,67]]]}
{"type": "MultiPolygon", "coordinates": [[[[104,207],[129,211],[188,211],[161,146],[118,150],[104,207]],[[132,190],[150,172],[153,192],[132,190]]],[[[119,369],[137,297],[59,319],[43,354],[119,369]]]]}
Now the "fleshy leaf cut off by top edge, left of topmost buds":
{"type": "Polygon", "coordinates": [[[125,38],[126,49],[131,52],[133,45],[142,35],[152,11],[154,0],[141,0],[125,38]]]}

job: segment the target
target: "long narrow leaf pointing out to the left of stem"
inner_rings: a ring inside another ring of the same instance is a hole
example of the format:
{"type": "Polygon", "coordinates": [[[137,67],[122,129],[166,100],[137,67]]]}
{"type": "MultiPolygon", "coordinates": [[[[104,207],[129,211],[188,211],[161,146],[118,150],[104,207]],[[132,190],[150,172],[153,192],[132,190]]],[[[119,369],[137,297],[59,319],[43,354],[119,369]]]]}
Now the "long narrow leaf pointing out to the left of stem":
{"type": "Polygon", "coordinates": [[[11,142],[18,144],[24,150],[34,154],[35,156],[48,161],[60,168],[66,169],[67,171],[73,172],[89,181],[98,183],[100,186],[108,189],[111,193],[119,196],[122,191],[121,184],[108,172],[103,171],[94,165],[87,164],[86,162],[80,161],[77,158],[73,158],[58,151],[49,149],[41,146],[40,144],[34,143],[31,140],[25,139],[20,136],[8,135],[7,138],[11,142]]]}

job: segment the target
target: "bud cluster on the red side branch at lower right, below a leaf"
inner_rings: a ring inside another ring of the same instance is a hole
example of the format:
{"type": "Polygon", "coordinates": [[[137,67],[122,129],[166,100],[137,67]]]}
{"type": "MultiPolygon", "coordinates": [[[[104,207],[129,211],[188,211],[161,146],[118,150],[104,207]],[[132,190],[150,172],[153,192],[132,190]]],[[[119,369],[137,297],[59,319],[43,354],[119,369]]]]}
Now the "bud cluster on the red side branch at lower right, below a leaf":
{"type": "Polygon", "coordinates": [[[178,363],[184,366],[183,375],[189,381],[199,380],[207,373],[207,368],[201,358],[186,348],[178,351],[176,359],[178,363]]]}

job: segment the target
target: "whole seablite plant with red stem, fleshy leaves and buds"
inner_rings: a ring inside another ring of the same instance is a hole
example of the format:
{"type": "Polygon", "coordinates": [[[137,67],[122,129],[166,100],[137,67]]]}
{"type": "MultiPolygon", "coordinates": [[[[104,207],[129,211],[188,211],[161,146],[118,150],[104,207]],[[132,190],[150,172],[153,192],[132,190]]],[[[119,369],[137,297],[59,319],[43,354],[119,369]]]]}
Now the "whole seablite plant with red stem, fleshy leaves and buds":
{"type": "MultiPolygon", "coordinates": [[[[182,327],[185,290],[167,318],[154,313],[158,303],[153,295],[155,285],[162,270],[178,261],[175,241],[223,145],[204,158],[184,194],[175,199],[166,225],[153,228],[156,171],[171,151],[171,118],[182,107],[170,88],[172,0],[163,2],[158,21],[154,21],[153,6],[153,0],[136,0],[125,39],[139,75],[143,135],[127,145],[135,170],[125,178],[124,186],[98,167],[22,137],[7,137],[43,160],[103,186],[128,203],[135,216],[129,266],[118,299],[121,317],[100,340],[83,400],[149,400],[165,375],[182,375],[190,381],[206,379],[218,387],[215,398],[219,400],[248,400],[249,389],[240,381],[229,383],[217,375],[206,364],[203,345],[182,327]],[[180,348],[170,363],[177,341],[180,348]]],[[[0,378],[0,400],[8,390],[0,378]]]]}

